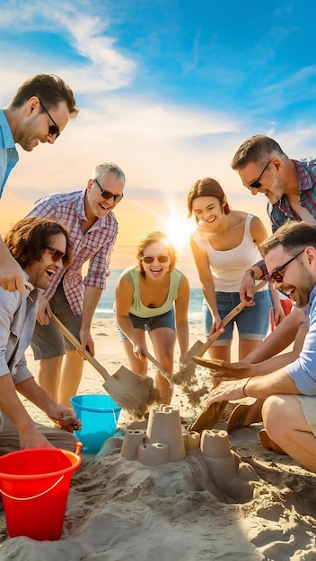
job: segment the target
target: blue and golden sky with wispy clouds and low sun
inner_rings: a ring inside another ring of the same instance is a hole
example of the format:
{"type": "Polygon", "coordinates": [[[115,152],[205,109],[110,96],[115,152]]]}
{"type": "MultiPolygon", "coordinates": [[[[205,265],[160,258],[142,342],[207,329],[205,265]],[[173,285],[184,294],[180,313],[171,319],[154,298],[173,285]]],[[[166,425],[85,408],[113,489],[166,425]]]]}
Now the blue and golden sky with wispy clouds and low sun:
{"type": "Polygon", "coordinates": [[[215,177],[234,209],[269,230],[264,195],[230,163],[252,134],[296,160],[316,157],[315,0],[9,0],[0,7],[0,107],[37,73],[60,75],[78,117],[51,146],[17,145],[0,204],[2,235],[45,194],[83,189],[95,165],[127,176],[113,268],[147,232],[168,234],[196,280],[187,196],[215,177]]]}

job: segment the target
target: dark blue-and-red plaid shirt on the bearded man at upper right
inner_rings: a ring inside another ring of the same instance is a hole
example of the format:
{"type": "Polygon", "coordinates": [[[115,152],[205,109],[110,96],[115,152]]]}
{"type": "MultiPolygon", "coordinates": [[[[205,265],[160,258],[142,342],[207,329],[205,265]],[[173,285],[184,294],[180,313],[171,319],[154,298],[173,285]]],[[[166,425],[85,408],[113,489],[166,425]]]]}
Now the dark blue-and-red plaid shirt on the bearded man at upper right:
{"type": "MultiPolygon", "coordinates": [[[[298,192],[301,206],[311,212],[312,216],[316,219],[316,159],[293,161],[297,171],[298,192]]],[[[273,232],[288,220],[301,220],[290,207],[285,194],[277,203],[268,203],[267,211],[273,232]]],[[[265,262],[259,261],[256,265],[262,269],[262,277],[268,278],[265,262]]]]}

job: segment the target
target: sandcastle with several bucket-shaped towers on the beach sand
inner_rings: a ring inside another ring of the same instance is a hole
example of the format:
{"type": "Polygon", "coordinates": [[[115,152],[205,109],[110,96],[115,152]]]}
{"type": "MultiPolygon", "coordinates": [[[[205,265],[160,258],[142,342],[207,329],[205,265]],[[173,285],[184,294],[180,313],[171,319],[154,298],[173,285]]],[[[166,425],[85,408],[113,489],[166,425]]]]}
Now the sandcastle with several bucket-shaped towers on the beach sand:
{"type": "Polygon", "coordinates": [[[189,431],[181,425],[180,410],[171,405],[152,407],[146,429],[127,429],[121,447],[125,460],[145,466],[181,462],[188,452],[200,450],[217,488],[237,502],[253,498],[259,476],[233,453],[225,430],[189,431]]]}

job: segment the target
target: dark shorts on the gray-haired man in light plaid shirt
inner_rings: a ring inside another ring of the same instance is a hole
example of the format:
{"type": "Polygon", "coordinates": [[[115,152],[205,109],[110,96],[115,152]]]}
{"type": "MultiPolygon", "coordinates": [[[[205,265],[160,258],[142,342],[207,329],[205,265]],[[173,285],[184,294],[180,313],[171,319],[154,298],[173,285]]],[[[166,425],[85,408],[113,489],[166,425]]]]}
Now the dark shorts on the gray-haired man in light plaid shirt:
{"type": "MultiPolygon", "coordinates": [[[[59,282],[54,296],[49,300],[52,312],[66,328],[79,340],[79,331],[82,324],[82,315],[74,315],[66,299],[63,282],[59,282]]],[[[65,355],[65,350],[75,350],[75,347],[59,331],[56,324],[49,320],[48,325],[36,322],[31,338],[31,350],[34,359],[53,358],[65,355]]]]}

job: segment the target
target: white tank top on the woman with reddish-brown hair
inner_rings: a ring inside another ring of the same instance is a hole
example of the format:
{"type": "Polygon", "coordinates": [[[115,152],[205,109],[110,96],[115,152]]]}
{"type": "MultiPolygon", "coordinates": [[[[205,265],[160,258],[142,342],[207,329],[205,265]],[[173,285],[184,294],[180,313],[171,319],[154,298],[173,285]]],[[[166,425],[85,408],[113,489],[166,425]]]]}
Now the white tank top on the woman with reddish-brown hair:
{"type": "Polygon", "coordinates": [[[253,263],[257,263],[262,259],[259,249],[250,233],[250,222],[253,216],[253,214],[247,215],[241,244],[233,249],[214,249],[208,242],[206,236],[201,236],[198,229],[194,231],[194,241],[197,246],[207,254],[208,263],[214,279],[215,290],[220,290],[221,292],[239,292],[241,280],[246,269],[250,269],[253,263]]]}

